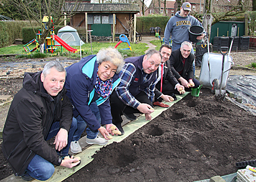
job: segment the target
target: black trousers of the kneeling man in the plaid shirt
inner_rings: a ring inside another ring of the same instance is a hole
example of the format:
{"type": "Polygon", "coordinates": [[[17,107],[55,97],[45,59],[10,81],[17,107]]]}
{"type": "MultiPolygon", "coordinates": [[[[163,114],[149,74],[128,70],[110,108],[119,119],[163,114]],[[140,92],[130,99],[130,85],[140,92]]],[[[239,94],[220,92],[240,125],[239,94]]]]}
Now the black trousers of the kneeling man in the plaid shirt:
{"type": "MultiPolygon", "coordinates": [[[[144,92],[139,93],[137,96],[135,96],[135,98],[143,104],[148,104],[153,106],[152,102],[148,99],[147,94],[144,92]]],[[[121,117],[123,113],[126,113],[126,114],[141,113],[138,109],[134,109],[133,107],[127,106],[125,103],[123,103],[119,99],[115,91],[110,95],[109,100],[110,100],[111,114],[113,117],[113,120],[112,120],[113,124],[123,122],[123,119],[121,117]]]]}

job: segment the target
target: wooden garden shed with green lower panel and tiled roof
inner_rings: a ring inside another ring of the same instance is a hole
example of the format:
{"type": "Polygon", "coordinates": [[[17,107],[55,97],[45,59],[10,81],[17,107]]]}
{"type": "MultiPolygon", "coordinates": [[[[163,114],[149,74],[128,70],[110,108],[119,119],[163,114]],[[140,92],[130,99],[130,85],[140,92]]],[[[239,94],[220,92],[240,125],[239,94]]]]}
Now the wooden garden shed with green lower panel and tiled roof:
{"type": "MultiPolygon", "coordinates": [[[[65,3],[65,10],[72,10],[76,3],[65,3]]],[[[129,3],[80,3],[75,7],[75,15],[71,18],[73,28],[85,27],[87,13],[88,30],[93,30],[92,35],[112,36],[113,14],[115,14],[115,35],[128,34],[126,19],[139,13],[139,5],[129,3]]]]}

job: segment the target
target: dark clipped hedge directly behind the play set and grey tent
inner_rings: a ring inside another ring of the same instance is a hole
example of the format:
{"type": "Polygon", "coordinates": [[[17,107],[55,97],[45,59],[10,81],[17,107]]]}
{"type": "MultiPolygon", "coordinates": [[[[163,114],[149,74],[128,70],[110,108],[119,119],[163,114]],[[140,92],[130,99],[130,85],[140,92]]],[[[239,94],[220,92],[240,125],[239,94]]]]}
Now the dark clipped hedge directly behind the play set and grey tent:
{"type": "MultiPolygon", "coordinates": [[[[55,34],[57,35],[57,32],[64,26],[57,26],[54,29],[55,34]]],[[[42,27],[34,27],[36,34],[38,33],[38,30],[42,30],[42,27]]],[[[24,27],[22,28],[22,37],[23,37],[23,43],[26,44],[30,42],[31,40],[36,38],[35,32],[32,27],[24,27]]],[[[48,35],[49,36],[49,35],[48,35]]]]}

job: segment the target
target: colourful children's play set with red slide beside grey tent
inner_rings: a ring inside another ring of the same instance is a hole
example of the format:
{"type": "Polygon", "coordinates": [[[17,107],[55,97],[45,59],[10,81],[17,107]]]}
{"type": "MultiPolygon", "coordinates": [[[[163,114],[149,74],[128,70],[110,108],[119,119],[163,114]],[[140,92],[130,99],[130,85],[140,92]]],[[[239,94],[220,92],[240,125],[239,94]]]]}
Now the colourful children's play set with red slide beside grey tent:
{"type": "MultiPolygon", "coordinates": [[[[50,17],[50,19],[51,19],[51,23],[54,24],[52,16],[50,17]]],[[[43,20],[42,20],[42,23],[43,23],[44,26],[46,26],[46,29],[47,29],[48,21],[49,21],[48,16],[44,16],[43,20]]],[[[73,28],[73,29],[75,29],[75,28],[73,28]]],[[[72,52],[72,53],[80,51],[80,49],[75,49],[75,48],[69,46],[63,39],[61,39],[59,36],[55,35],[54,34],[54,26],[53,26],[52,30],[50,31],[50,35],[51,36],[47,37],[46,40],[44,41],[44,52],[45,53],[47,53],[47,52],[51,52],[51,53],[55,52],[58,46],[61,47],[61,52],[63,52],[63,47],[65,49],[67,49],[69,52],[72,52]]],[[[38,48],[40,48],[38,39],[40,39],[41,36],[42,36],[42,30],[39,30],[38,34],[36,34],[36,38],[31,40],[30,42],[28,42],[26,45],[23,46],[25,51],[26,52],[33,52],[33,51],[37,50],[38,48]],[[36,47],[30,49],[28,46],[30,46],[33,43],[36,44],[36,47]]],[[[82,43],[84,43],[84,42],[82,42],[82,43]]]]}

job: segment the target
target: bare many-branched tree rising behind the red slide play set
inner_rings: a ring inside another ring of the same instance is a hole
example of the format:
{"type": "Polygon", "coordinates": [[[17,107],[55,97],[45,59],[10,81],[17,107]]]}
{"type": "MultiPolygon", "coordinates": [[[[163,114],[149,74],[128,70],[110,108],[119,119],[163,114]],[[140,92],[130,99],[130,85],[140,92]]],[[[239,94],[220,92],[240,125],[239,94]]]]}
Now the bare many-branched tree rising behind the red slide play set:
{"type": "MultiPolygon", "coordinates": [[[[80,1],[81,0],[76,1],[77,5],[80,1]]],[[[32,20],[41,24],[42,35],[40,35],[40,39],[38,39],[40,52],[43,52],[43,44],[49,32],[53,30],[54,26],[58,26],[63,22],[63,12],[66,13],[65,17],[69,18],[74,15],[73,11],[75,9],[65,9],[65,0],[12,0],[11,2],[18,11],[20,11],[20,13],[30,21],[35,36],[38,32],[36,32],[35,26],[32,24],[32,20]],[[42,23],[44,16],[48,16],[48,22],[45,24],[42,23]]],[[[78,6],[74,7],[77,9],[78,6]]]]}

